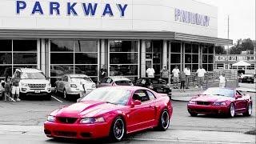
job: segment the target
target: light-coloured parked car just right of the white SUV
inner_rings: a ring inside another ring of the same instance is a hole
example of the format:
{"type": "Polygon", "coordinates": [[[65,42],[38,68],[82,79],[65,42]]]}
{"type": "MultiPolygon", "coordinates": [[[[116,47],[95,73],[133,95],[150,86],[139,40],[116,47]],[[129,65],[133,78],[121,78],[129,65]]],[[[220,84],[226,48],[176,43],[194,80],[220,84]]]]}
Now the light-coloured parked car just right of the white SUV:
{"type": "Polygon", "coordinates": [[[64,98],[81,98],[96,89],[96,84],[85,74],[64,74],[55,82],[55,92],[63,94],[64,98]]]}

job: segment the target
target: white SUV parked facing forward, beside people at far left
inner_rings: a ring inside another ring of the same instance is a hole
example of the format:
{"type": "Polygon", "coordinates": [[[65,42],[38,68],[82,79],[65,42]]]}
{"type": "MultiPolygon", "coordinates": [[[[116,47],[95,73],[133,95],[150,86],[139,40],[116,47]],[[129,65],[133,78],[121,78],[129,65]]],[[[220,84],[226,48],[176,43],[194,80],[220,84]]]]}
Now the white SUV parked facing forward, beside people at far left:
{"type": "Polygon", "coordinates": [[[49,78],[38,69],[20,68],[16,69],[13,78],[17,76],[15,73],[20,74],[20,95],[34,95],[34,96],[45,96],[50,100],[51,98],[51,86],[49,78]]]}

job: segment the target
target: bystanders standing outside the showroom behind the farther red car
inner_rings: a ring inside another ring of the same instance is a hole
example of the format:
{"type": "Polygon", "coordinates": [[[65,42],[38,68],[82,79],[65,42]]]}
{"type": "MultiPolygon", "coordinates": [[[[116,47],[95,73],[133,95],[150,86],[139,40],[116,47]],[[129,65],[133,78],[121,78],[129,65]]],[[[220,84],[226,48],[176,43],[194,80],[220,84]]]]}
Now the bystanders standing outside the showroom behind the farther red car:
{"type": "MultiPolygon", "coordinates": [[[[151,66],[146,70],[146,74],[148,78],[154,78],[154,68],[151,66]]],[[[190,89],[190,75],[191,70],[190,66],[186,66],[186,68],[181,72],[178,69],[178,66],[174,67],[174,70],[171,71],[171,74],[173,76],[174,81],[174,89],[178,89],[178,82],[181,82],[180,89],[185,91],[185,89],[190,89]]],[[[204,83],[204,77],[206,74],[206,70],[200,66],[198,70],[196,71],[198,82],[197,82],[197,88],[200,86],[202,88],[202,85],[204,83]]],[[[170,76],[170,71],[167,70],[167,67],[164,66],[163,69],[160,71],[161,78],[166,80],[168,82],[168,78],[170,76]]],[[[226,86],[226,77],[224,74],[222,74],[219,77],[219,87],[224,88],[226,86]]]]}

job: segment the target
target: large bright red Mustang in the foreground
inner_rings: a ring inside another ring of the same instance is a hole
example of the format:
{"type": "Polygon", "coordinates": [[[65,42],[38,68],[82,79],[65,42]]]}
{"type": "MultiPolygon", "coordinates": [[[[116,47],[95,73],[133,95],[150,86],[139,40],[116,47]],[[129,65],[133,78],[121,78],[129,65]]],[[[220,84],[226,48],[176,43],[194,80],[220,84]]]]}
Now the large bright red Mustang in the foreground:
{"type": "Polygon", "coordinates": [[[102,138],[157,127],[166,130],[173,107],[166,94],[138,86],[98,88],[80,102],[54,110],[44,123],[50,138],[102,138]]]}

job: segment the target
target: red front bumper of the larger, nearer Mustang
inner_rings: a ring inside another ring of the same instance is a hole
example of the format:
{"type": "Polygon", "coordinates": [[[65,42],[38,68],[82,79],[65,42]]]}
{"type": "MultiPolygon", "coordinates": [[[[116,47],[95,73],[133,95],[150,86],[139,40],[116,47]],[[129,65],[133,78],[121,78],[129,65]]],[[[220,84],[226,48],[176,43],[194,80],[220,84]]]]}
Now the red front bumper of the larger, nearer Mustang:
{"type": "Polygon", "coordinates": [[[104,138],[110,134],[110,124],[107,122],[95,124],[63,124],[46,121],[44,123],[44,132],[50,138],[104,138]]]}

